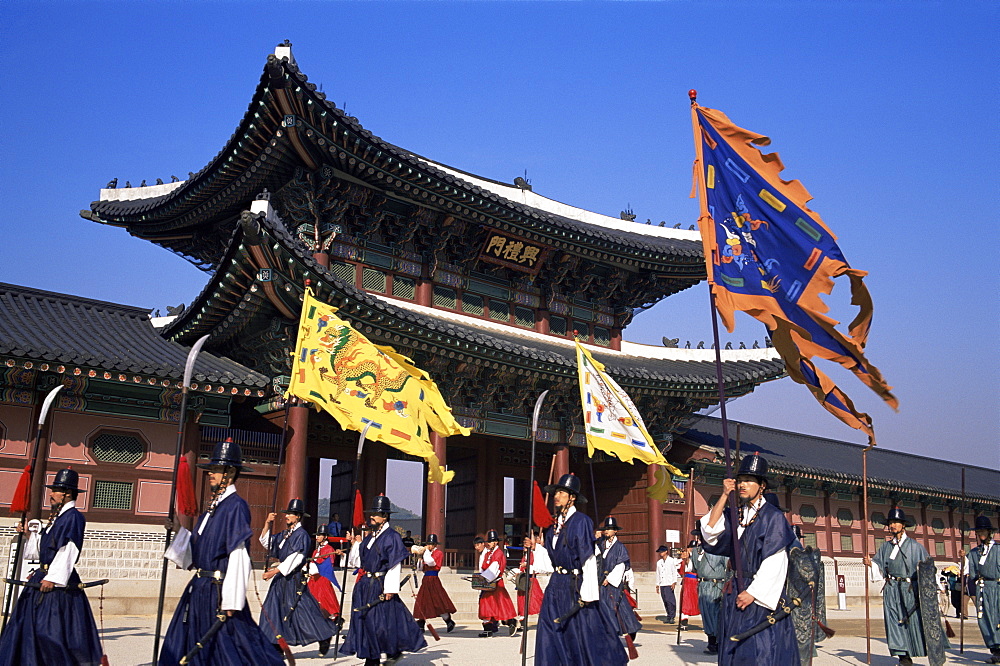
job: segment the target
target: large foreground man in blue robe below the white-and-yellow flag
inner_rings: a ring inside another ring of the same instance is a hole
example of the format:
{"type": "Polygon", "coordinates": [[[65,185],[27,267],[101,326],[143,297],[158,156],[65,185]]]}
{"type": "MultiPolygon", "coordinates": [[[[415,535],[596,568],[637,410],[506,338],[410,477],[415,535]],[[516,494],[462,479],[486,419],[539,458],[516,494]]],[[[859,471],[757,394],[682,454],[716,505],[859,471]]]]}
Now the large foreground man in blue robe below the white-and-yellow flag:
{"type": "Polygon", "coordinates": [[[618,625],[599,602],[594,522],[575,507],[587,501],[580,494],[580,479],[564,474],[559,483],[546,486],[545,492],[554,494],[558,516],[545,531],[544,545],[554,572],[538,616],[535,664],[625,664],[628,655],[618,638],[618,625]]]}

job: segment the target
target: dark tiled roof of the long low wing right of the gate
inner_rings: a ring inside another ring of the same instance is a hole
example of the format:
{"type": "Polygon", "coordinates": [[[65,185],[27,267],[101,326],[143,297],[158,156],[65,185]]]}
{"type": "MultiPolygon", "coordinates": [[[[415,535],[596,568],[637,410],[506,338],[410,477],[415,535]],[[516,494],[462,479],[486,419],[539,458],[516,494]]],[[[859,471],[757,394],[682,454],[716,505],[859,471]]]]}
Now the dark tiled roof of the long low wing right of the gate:
{"type": "MultiPolygon", "coordinates": [[[[735,446],[736,424],[729,423],[730,446],[735,446]]],[[[724,450],[722,421],[713,417],[694,417],[692,425],[681,438],[694,444],[724,450]]],[[[782,472],[815,474],[818,476],[860,481],[861,451],[865,446],[835,439],[814,437],[763,426],[740,424],[740,455],[759,453],[772,469],[782,472]]],[[[998,450],[990,452],[997,463],[998,450]]],[[[1000,503],[1000,471],[994,468],[963,465],[948,460],[928,458],[912,453],[875,447],[868,452],[868,479],[882,485],[914,490],[947,491],[958,494],[962,489],[962,469],[965,488],[970,496],[1000,503]]]]}

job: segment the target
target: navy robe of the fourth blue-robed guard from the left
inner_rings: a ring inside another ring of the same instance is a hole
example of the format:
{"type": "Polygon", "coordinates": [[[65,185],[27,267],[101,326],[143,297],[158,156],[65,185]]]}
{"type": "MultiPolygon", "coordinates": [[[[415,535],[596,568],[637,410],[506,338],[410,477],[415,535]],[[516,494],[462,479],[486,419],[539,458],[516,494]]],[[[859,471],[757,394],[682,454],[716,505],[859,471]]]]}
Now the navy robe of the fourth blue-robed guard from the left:
{"type": "Polygon", "coordinates": [[[403,545],[403,538],[387,527],[378,537],[365,537],[361,542],[360,555],[365,575],[355,584],[351,595],[350,625],[340,654],[379,659],[383,652],[394,656],[427,647],[424,632],[398,594],[369,610],[355,612],[355,609],[376,601],[382,594],[383,576],[370,574],[385,574],[410,556],[410,551],[403,545]]]}

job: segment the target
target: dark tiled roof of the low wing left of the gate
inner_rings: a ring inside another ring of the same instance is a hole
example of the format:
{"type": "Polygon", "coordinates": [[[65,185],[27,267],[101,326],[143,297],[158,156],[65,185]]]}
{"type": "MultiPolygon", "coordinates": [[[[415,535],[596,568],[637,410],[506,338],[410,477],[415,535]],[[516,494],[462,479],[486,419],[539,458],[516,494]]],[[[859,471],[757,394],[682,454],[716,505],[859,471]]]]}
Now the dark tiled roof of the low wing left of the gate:
{"type": "MultiPolygon", "coordinates": [[[[182,380],[188,349],[162,338],[149,310],[0,283],[0,356],[182,380]]],[[[194,379],[264,387],[264,375],[202,352],[194,379]]]]}

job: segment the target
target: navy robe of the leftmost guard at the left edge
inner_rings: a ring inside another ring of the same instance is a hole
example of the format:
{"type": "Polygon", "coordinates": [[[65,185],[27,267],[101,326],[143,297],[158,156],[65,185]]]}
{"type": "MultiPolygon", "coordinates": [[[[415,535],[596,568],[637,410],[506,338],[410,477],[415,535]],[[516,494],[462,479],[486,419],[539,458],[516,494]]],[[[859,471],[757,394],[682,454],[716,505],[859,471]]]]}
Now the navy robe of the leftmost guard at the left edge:
{"type": "MultiPolygon", "coordinates": [[[[41,535],[40,562],[52,563],[56,553],[73,542],[83,549],[87,524],[75,507],[67,509],[41,535]]],[[[35,569],[28,580],[40,583],[46,571],[35,569]]],[[[0,636],[0,664],[3,666],[49,666],[51,664],[98,664],[101,641],[86,593],[78,586],[76,569],[65,588],[42,592],[25,588],[17,600],[3,636],[0,636]]],[[[15,589],[14,594],[17,593],[15,589]]]]}

